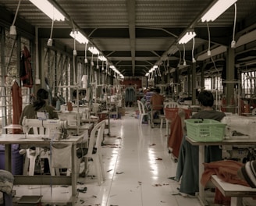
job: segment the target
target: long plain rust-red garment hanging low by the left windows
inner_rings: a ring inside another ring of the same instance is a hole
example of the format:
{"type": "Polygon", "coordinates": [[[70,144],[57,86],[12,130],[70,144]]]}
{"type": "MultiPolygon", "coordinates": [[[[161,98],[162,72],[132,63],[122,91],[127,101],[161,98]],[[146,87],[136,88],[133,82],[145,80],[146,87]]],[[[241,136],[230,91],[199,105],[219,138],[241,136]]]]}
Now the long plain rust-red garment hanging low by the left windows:
{"type": "MultiPolygon", "coordinates": [[[[22,94],[19,84],[15,81],[12,85],[12,124],[19,124],[22,112],[22,94]]],[[[13,129],[12,133],[21,133],[20,129],[13,129]]]]}

